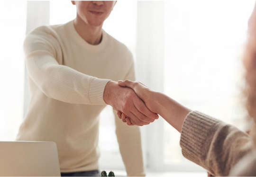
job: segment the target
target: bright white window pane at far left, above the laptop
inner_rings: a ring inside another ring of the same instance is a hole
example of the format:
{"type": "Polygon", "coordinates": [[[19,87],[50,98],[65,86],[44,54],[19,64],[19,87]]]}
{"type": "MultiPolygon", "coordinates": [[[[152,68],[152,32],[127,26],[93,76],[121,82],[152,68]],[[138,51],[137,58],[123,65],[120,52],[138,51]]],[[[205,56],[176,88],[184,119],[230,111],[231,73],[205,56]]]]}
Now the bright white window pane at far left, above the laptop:
{"type": "Polygon", "coordinates": [[[27,1],[0,1],[0,140],[14,141],[23,118],[27,1]]]}

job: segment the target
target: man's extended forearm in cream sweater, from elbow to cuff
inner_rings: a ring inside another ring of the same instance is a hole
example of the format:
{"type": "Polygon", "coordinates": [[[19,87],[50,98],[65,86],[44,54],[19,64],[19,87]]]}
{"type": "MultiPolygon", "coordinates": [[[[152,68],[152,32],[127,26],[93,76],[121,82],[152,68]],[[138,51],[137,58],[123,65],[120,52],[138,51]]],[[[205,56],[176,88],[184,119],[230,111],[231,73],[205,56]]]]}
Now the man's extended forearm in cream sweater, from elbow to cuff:
{"type": "Polygon", "coordinates": [[[109,80],[101,80],[59,65],[47,53],[37,52],[27,56],[27,71],[47,97],[73,104],[106,104],[103,92],[109,80]]]}

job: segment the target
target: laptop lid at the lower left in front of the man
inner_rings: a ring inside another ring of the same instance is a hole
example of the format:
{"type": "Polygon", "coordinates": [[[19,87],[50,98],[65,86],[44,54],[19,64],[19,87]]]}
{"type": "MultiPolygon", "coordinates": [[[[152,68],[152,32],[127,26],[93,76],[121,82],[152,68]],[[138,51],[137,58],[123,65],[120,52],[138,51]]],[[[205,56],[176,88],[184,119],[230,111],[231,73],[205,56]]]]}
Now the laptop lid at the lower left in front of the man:
{"type": "Polygon", "coordinates": [[[61,177],[55,142],[0,142],[0,177],[61,177]]]}

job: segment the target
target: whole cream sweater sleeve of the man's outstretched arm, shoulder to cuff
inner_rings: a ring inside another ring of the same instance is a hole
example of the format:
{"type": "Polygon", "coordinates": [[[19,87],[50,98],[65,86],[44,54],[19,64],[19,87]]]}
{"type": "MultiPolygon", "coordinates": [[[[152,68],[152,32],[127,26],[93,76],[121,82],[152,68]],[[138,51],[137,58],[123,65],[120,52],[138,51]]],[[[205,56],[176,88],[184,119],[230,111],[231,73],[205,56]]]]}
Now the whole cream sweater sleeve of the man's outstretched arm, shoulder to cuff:
{"type": "Polygon", "coordinates": [[[110,80],[98,79],[59,64],[56,58],[62,49],[56,37],[49,33],[51,31],[38,28],[24,41],[31,80],[47,97],[74,104],[105,105],[103,92],[110,80]]]}

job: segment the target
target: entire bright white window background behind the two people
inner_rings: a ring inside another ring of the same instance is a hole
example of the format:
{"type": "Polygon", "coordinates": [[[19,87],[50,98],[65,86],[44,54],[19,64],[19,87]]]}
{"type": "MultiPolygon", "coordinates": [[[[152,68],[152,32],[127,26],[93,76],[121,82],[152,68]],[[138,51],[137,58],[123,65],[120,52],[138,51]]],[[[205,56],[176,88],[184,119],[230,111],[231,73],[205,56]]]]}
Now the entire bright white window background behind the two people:
{"type": "MultiPolygon", "coordinates": [[[[126,44],[137,80],[184,106],[246,131],[241,56],[255,1],[118,1],[103,29],[126,44]]],[[[33,28],[76,16],[67,0],[0,1],[0,141],[15,140],[29,92],[23,40],[33,28]]],[[[203,171],[181,153],[180,134],[163,119],[141,127],[148,171],[203,171]]],[[[114,116],[101,113],[102,169],[124,170],[114,116]]]]}

